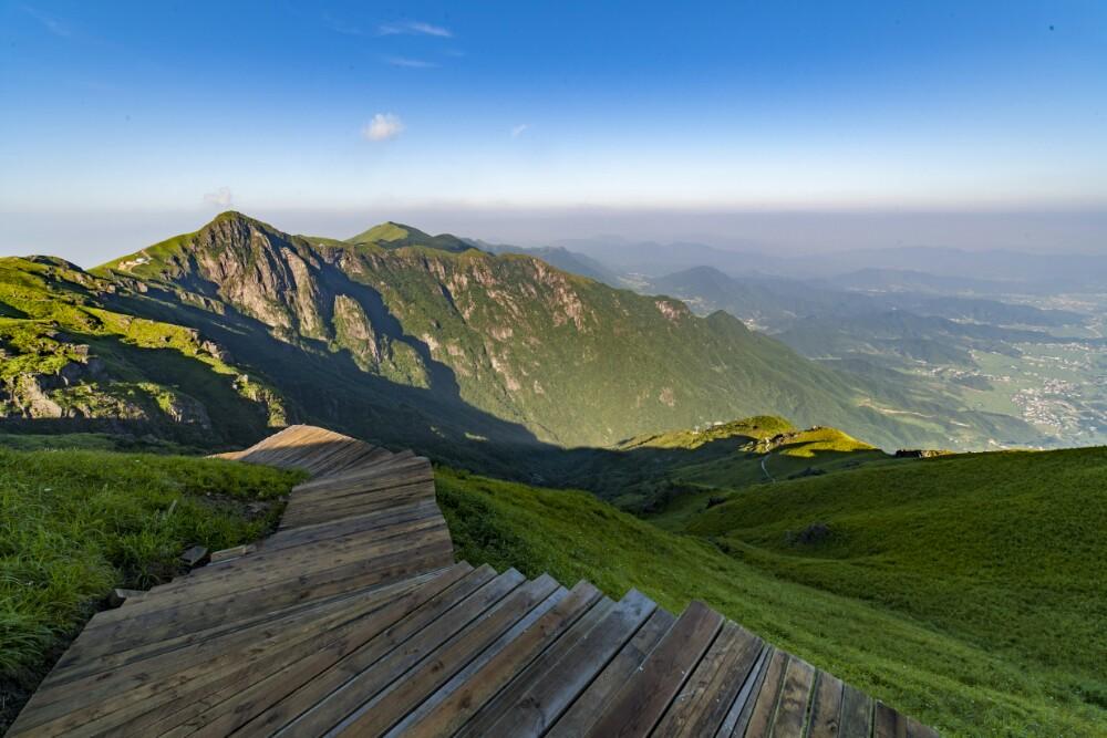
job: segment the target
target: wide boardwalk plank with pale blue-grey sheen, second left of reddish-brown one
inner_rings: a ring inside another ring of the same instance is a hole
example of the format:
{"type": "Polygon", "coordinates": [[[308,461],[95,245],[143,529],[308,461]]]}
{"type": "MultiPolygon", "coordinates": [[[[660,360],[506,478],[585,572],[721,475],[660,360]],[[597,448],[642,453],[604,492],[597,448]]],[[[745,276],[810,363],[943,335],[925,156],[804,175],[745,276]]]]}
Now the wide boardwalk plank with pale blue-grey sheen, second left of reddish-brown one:
{"type": "Polygon", "coordinates": [[[503,707],[488,732],[498,736],[541,736],[611,658],[631,640],[656,604],[631,590],[607,616],[568,649],[542,678],[503,707]]]}

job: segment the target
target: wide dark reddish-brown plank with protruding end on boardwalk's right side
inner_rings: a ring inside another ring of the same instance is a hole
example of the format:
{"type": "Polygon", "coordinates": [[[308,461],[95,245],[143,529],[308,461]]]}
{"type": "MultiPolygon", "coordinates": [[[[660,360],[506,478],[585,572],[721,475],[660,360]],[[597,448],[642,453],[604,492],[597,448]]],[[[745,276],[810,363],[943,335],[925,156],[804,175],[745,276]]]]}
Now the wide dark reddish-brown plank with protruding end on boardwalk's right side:
{"type": "Polygon", "coordinates": [[[714,641],[723,616],[692,602],[589,730],[589,736],[645,736],[714,641]]]}

